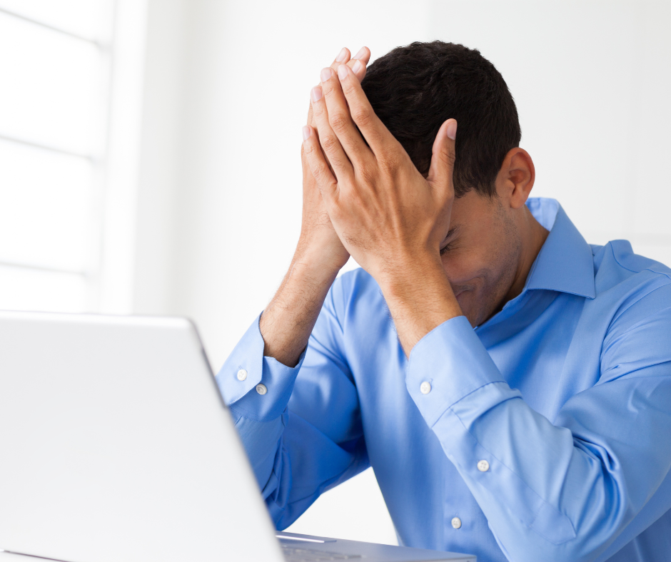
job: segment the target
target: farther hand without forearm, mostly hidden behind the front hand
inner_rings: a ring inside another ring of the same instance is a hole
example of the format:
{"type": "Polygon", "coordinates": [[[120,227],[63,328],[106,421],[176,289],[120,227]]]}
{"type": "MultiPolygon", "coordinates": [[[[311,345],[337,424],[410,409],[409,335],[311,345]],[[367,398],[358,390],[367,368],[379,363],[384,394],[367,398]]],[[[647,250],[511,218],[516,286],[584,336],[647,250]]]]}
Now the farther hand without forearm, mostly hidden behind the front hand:
{"type": "MultiPolygon", "coordinates": [[[[335,72],[341,64],[352,68],[358,62],[357,70],[353,76],[360,82],[365,76],[365,67],[369,60],[370,51],[367,47],[362,47],[354,58],[350,58],[348,48],[343,48],[330,68],[335,72]]],[[[308,111],[308,126],[313,128],[316,126],[312,104],[308,111]]],[[[326,270],[335,270],[337,273],[345,265],[350,255],[343,247],[338,235],[335,234],[335,230],[333,230],[321,193],[306,161],[303,147],[301,147],[301,160],[303,160],[303,218],[296,257],[299,260],[319,262],[323,267],[326,267],[326,270]]]]}

